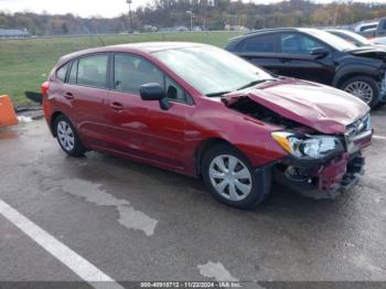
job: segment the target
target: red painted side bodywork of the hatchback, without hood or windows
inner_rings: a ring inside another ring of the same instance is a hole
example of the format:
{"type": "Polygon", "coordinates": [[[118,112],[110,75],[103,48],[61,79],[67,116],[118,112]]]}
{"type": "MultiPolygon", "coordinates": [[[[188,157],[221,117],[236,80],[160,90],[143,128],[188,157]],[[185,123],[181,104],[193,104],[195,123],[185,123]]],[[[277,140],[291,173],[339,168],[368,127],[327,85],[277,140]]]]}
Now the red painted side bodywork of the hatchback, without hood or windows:
{"type": "Polygon", "coordinates": [[[132,53],[149,60],[181,85],[194,104],[172,103],[171,108],[163,111],[158,101],[143,101],[127,93],[64,84],[52,73],[50,96],[43,99],[45,118],[52,126],[51,119],[56,111],[65,114],[78,129],[85,147],[189,175],[196,175],[195,153],[211,139],[233,143],[255,167],[286,157],[283,149],[270,137],[270,132],[280,127],[228,109],[219,99],[202,96],[150,53],[126,46],[87,50],[62,57],[53,72],[75,57],[104,52],[132,53]],[[65,97],[67,93],[73,95],[72,99],[65,97]],[[124,104],[124,109],[115,110],[110,106],[112,103],[124,104]],[[256,142],[262,139],[265,141],[257,148],[256,142]]]}

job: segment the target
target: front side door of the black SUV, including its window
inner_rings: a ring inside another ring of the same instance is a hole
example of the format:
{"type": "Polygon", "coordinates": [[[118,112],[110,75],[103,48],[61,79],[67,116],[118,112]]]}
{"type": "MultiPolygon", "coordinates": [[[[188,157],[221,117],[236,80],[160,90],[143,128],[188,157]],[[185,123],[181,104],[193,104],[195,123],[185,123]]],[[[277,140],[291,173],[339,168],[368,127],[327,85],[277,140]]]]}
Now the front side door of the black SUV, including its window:
{"type": "Polygon", "coordinates": [[[279,34],[280,74],[308,79],[322,84],[331,84],[335,66],[331,49],[314,38],[299,32],[279,34]],[[325,50],[325,55],[313,55],[313,52],[325,50]]]}

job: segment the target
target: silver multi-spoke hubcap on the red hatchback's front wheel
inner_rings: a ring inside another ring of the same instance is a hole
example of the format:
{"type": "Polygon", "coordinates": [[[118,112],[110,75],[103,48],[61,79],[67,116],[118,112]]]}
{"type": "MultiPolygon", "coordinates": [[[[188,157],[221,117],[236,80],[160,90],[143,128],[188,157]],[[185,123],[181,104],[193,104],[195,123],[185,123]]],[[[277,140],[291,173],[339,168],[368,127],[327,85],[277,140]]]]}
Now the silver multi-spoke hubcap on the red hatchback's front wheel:
{"type": "Polygon", "coordinates": [[[214,158],[210,164],[210,179],[216,192],[227,200],[242,201],[250,194],[250,172],[234,156],[221,154],[214,158]]]}

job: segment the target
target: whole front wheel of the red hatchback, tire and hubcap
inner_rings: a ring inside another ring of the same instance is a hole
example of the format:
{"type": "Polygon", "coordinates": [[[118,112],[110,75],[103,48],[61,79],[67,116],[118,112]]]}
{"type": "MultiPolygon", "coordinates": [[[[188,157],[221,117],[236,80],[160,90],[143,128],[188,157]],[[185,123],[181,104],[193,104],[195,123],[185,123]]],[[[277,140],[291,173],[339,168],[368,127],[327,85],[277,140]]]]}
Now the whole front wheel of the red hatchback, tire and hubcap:
{"type": "Polygon", "coordinates": [[[270,190],[269,171],[255,171],[249,161],[229,144],[217,144],[206,151],[202,175],[217,200],[238,208],[256,207],[270,190]]]}

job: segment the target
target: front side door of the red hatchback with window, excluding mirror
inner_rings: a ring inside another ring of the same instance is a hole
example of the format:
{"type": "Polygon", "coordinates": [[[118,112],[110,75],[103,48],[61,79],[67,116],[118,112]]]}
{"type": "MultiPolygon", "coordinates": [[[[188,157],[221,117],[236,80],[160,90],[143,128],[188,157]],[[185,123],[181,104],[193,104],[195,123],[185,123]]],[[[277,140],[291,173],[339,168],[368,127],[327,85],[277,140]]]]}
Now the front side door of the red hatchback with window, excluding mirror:
{"type": "Polygon", "coordinates": [[[115,130],[114,149],[131,158],[182,170],[185,119],[193,109],[184,89],[141,56],[116,53],[112,66],[114,87],[108,103],[115,130]],[[165,88],[171,101],[169,110],[162,110],[158,101],[140,98],[139,88],[148,83],[159,83],[165,88]]]}

